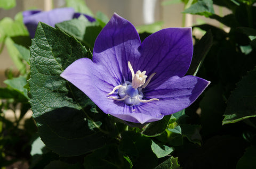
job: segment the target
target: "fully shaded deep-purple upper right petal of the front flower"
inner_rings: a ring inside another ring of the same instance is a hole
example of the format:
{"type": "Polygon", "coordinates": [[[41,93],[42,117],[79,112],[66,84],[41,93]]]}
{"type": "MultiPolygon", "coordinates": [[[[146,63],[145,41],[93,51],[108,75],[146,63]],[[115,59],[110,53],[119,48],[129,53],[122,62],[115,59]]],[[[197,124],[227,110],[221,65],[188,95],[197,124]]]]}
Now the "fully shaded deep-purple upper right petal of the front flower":
{"type": "Polygon", "coordinates": [[[148,86],[161,85],[174,75],[183,77],[193,55],[191,28],[167,28],[147,37],[139,47],[141,58],[132,65],[134,71],[156,72],[148,86]]]}

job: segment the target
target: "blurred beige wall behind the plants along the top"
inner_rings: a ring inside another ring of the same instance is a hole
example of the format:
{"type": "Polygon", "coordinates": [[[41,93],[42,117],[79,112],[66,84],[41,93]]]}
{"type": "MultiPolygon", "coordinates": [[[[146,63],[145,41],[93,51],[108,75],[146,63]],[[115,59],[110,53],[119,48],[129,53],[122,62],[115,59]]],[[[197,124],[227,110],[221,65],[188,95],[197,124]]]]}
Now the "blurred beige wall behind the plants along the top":
{"type": "MultiPolygon", "coordinates": [[[[85,2],[93,14],[97,11],[101,11],[106,14],[108,18],[111,18],[111,15],[116,12],[123,18],[132,22],[134,26],[162,22],[162,27],[168,28],[191,27],[195,24],[210,23],[214,26],[223,28],[223,25],[217,21],[205,18],[204,16],[182,14],[185,6],[183,3],[177,3],[175,0],[86,0],[85,2]],[[182,20],[185,20],[186,22],[182,23],[182,20]]],[[[13,19],[15,14],[18,12],[29,9],[49,11],[53,8],[65,7],[65,3],[65,0],[19,0],[17,1],[17,5],[11,10],[0,9],[0,20],[4,17],[10,17],[13,19]]],[[[230,13],[224,7],[217,6],[214,7],[214,11],[220,16],[230,13]]],[[[4,86],[4,71],[9,67],[12,67],[12,69],[15,70],[15,66],[11,58],[8,56],[7,49],[3,46],[3,52],[0,54],[1,86],[4,86]]]]}

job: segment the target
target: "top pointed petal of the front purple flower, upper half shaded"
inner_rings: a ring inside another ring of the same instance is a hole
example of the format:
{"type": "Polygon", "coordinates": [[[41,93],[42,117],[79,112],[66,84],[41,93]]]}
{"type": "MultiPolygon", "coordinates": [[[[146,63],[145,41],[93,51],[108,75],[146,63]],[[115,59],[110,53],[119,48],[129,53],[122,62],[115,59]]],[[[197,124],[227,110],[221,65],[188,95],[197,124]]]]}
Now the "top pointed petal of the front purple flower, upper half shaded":
{"type": "Polygon", "coordinates": [[[93,49],[93,62],[106,67],[119,85],[131,80],[128,61],[139,57],[140,37],[134,26],[116,13],[99,33],[93,49]]]}

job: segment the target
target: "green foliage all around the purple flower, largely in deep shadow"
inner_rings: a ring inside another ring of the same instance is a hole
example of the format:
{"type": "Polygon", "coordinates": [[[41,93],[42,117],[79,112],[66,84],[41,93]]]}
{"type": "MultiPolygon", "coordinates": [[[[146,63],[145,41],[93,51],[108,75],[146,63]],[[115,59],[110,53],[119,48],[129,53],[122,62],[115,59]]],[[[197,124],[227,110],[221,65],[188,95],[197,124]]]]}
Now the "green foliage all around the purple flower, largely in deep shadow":
{"type": "MultiPolygon", "coordinates": [[[[15,6],[15,1],[4,2],[5,9],[15,6]]],[[[67,6],[92,15],[83,2],[67,1],[67,6]]],[[[146,125],[104,114],[59,76],[78,58],[92,58],[95,38],[108,22],[104,14],[94,15],[95,22],[81,16],[55,28],[39,23],[32,40],[21,13],[14,20],[2,19],[1,50],[3,45],[9,49],[19,74],[7,70],[7,87],[0,88],[0,166],[23,161],[30,168],[256,168],[255,1],[172,0],[163,5],[172,3],[184,3],[184,13],[217,20],[230,30],[193,27],[206,33],[194,37],[187,74],[211,85],[190,107],[146,125]],[[219,16],[213,4],[231,13],[219,16]],[[33,118],[19,128],[30,108],[33,118]],[[20,110],[15,122],[6,119],[6,109],[20,110]]],[[[141,40],[161,24],[138,27],[141,40]]]]}

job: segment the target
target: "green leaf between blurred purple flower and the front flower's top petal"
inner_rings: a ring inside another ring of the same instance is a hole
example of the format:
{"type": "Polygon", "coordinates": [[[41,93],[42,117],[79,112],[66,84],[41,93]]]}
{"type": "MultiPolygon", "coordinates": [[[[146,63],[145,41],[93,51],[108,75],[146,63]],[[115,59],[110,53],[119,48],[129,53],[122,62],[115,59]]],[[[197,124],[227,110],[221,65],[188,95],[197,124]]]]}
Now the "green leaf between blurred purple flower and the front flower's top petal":
{"type": "Polygon", "coordinates": [[[68,35],[80,40],[87,48],[93,50],[94,42],[102,27],[98,22],[90,22],[83,15],[78,19],[73,19],[55,25],[68,35]]]}

